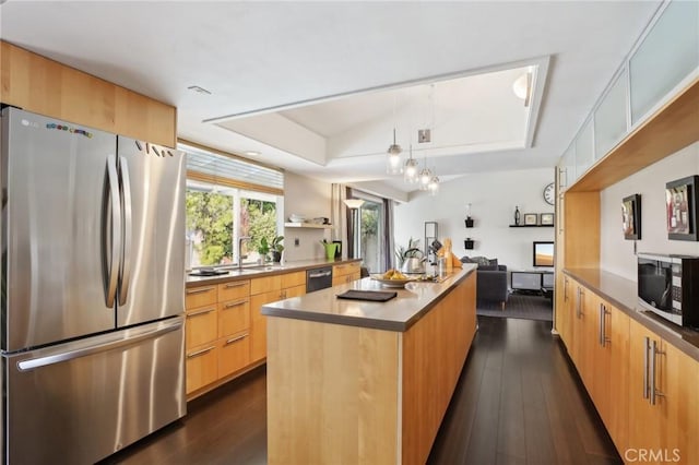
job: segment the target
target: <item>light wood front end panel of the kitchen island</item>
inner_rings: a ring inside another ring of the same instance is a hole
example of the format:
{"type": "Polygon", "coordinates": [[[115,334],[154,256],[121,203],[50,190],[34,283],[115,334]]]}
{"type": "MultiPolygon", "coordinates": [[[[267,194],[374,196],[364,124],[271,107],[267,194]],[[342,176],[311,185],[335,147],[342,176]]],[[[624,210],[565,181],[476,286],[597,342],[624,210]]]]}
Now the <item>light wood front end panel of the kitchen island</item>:
{"type": "Polygon", "coordinates": [[[395,463],[399,337],[269,317],[269,463],[395,463]]]}

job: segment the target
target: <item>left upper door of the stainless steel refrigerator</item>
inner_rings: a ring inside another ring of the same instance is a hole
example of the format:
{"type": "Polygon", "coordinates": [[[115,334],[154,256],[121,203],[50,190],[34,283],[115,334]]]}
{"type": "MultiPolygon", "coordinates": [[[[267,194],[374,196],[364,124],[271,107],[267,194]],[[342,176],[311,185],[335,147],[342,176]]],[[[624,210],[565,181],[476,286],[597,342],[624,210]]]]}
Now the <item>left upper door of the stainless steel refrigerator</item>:
{"type": "Polygon", "coordinates": [[[16,108],[3,110],[2,124],[2,348],[114,329],[105,287],[112,211],[105,200],[116,138],[16,108]]]}

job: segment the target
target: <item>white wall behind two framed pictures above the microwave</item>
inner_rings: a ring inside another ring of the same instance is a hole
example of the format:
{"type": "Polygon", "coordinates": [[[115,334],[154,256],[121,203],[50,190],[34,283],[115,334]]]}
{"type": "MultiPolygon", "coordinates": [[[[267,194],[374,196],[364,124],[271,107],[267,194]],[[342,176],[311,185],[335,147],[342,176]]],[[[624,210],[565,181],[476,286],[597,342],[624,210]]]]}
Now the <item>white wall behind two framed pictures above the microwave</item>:
{"type": "Polygon", "coordinates": [[[668,240],[666,231],[665,183],[699,175],[699,142],[663,158],[601,192],[600,266],[636,281],[633,241],[621,233],[621,199],[641,194],[641,239],[639,252],[699,254],[699,242],[668,240]]]}

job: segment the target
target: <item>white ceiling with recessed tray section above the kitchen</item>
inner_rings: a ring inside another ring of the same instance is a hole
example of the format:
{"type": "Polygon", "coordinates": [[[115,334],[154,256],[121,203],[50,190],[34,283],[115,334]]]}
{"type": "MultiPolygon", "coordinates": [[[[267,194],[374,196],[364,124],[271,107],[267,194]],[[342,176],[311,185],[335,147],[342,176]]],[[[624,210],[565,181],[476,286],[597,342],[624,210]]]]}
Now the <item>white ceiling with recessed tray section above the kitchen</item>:
{"type": "Polygon", "coordinates": [[[659,4],[9,0],[0,37],[177,106],[183,139],[407,191],[386,174],[394,126],[442,179],[553,167],[659,4]]]}

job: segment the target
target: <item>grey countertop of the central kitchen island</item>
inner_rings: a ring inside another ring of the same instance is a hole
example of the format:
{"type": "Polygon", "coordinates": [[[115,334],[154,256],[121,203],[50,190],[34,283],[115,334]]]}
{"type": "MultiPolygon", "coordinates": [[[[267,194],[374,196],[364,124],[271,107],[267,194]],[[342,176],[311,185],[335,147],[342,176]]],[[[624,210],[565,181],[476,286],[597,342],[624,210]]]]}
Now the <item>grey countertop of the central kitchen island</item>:
{"type": "MultiPolygon", "coordinates": [[[[379,282],[365,277],[305,296],[268,303],[262,307],[262,314],[404,332],[476,269],[475,264],[463,266],[462,270],[454,270],[442,282],[407,283],[404,289],[382,287],[379,282]],[[395,290],[398,296],[387,302],[345,300],[336,297],[348,289],[395,290]]],[[[466,310],[464,308],[464,311],[466,310]]]]}

